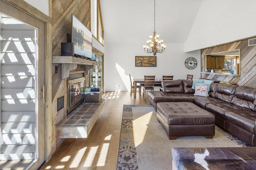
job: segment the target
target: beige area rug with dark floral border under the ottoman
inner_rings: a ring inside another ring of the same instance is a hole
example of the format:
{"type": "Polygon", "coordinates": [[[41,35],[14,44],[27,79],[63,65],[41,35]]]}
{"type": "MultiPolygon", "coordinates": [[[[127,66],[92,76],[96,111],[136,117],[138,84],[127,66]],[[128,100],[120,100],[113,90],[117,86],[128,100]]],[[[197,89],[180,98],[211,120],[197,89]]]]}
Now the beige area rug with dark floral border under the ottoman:
{"type": "Polygon", "coordinates": [[[218,126],[213,139],[169,140],[151,105],[124,105],[121,126],[118,170],[171,170],[173,147],[250,147],[218,126]]]}

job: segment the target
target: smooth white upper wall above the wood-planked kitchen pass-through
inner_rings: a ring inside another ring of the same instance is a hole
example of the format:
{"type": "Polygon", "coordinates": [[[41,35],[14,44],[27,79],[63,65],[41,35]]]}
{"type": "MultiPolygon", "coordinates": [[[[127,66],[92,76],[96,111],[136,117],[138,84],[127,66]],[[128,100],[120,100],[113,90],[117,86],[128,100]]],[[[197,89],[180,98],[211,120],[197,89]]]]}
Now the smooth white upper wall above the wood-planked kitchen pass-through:
{"type": "Polygon", "coordinates": [[[185,52],[256,35],[256,0],[203,0],[185,52]]]}

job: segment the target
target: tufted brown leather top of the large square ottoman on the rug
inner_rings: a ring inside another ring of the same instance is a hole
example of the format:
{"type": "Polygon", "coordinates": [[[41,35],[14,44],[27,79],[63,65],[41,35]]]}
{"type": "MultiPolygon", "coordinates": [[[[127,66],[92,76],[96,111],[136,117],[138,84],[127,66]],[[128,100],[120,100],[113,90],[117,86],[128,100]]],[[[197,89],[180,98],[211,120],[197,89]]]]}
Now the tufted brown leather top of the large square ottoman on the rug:
{"type": "Polygon", "coordinates": [[[168,125],[212,125],[212,113],[191,102],[159,102],[157,112],[168,125]]]}

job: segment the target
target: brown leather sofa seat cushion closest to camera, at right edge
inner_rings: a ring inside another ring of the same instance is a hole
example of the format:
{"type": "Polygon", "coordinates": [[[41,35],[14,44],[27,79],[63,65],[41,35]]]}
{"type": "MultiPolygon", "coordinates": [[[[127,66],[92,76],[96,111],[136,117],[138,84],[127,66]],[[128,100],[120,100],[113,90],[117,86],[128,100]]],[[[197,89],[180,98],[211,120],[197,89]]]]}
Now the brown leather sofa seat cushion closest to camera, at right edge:
{"type": "Polygon", "coordinates": [[[250,133],[254,133],[255,111],[228,111],[225,113],[224,119],[250,133]]]}

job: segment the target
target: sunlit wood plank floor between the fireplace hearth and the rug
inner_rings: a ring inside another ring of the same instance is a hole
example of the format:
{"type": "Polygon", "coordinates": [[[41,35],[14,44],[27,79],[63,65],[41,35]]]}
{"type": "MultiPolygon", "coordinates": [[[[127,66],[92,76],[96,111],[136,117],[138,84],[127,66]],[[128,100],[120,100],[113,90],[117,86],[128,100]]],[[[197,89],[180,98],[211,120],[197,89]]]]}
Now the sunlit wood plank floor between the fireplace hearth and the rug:
{"type": "Polygon", "coordinates": [[[105,105],[86,139],[65,139],[52,158],[42,166],[46,169],[115,170],[124,104],[150,104],[146,98],[130,92],[106,92],[105,105]]]}

